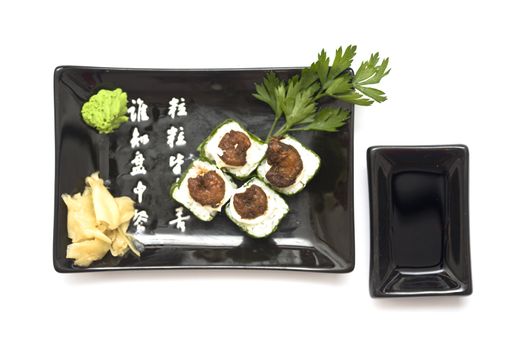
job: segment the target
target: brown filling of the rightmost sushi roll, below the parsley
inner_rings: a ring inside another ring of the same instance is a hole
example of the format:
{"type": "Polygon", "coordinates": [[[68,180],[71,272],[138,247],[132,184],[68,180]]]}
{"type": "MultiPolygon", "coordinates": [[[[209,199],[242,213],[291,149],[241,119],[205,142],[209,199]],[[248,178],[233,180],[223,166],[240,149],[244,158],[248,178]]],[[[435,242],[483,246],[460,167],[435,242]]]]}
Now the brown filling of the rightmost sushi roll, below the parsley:
{"type": "Polygon", "coordinates": [[[293,185],[297,176],[303,171],[303,161],[299,152],[277,137],[270,140],[266,150],[266,160],[271,166],[266,173],[266,179],[276,187],[293,185]]]}

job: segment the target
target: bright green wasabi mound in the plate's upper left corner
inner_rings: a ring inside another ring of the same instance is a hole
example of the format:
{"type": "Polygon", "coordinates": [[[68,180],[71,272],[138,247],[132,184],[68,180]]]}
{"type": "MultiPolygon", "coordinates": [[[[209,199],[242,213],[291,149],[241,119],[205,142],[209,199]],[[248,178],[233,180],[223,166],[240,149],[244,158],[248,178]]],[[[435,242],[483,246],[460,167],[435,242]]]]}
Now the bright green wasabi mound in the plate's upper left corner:
{"type": "Polygon", "coordinates": [[[101,134],[109,134],[128,121],[128,95],[122,89],[100,90],[82,106],[82,119],[101,134]]]}

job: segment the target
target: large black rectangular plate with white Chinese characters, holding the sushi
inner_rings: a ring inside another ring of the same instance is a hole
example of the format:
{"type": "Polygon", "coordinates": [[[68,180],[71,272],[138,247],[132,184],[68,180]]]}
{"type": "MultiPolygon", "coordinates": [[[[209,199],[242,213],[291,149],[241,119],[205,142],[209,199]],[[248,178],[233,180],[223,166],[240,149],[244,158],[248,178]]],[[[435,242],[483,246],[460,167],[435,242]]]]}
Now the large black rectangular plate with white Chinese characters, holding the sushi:
{"type": "MultiPolygon", "coordinates": [[[[59,272],[155,268],[250,268],[322,272],[350,272],[354,267],[353,210],[353,106],[348,125],[337,133],[295,134],[322,159],[320,172],[296,196],[287,198],[290,213],[279,230],[267,239],[244,235],[220,214],[211,222],[195,217],[185,233],[170,227],[176,203],[169,196],[175,175],[168,167],[170,155],[179,151],[196,154],[197,145],[215,125],[235,118],[259,136],[265,136],[273,120],[271,110],[256,100],[254,83],[269,71],[281,78],[299,72],[292,69],[153,70],[90,67],[58,67],[55,89],[55,222],[53,262],[59,272]],[[120,87],[128,99],[140,97],[148,104],[150,120],[123,124],[109,136],[99,135],[81,119],[82,104],[101,88],[120,87]],[[167,116],[172,97],[185,97],[188,116],[174,122],[167,116]],[[187,145],[170,150],[169,126],[183,126],[187,145]],[[106,257],[88,268],[75,267],[65,258],[67,208],[62,193],[84,188],[84,178],[94,171],[107,179],[114,195],[132,198],[139,178],[129,175],[133,127],[147,132],[144,149],[148,174],[143,205],[150,215],[148,245],[140,258],[127,254],[106,257]]],[[[187,166],[190,162],[185,162],[187,166]]],[[[184,169],[183,169],[184,170],[184,169]]]]}

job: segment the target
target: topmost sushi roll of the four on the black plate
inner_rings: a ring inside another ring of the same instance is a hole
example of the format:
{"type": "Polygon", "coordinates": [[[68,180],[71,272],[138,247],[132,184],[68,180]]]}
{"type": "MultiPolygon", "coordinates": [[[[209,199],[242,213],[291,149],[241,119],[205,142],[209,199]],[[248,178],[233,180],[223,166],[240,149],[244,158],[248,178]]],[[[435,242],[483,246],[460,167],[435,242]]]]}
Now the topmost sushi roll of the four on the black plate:
{"type": "Polygon", "coordinates": [[[201,157],[242,180],[257,168],[266,148],[260,138],[228,119],[217,126],[197,150],[201,157]]]}

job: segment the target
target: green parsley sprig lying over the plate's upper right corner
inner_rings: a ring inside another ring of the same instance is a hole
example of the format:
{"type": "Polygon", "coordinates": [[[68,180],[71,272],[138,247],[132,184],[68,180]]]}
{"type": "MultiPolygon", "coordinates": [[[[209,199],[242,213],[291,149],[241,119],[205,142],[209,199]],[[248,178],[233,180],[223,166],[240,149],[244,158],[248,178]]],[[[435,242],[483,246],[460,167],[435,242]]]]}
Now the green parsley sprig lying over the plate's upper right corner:
{"type": "Polygon", "coordinates": [[[344,51],[338,48],[332,65],[325,50],[322,50],[317,61],[304,68],[301,74],[283,81],[274,72],[269,72],[261,84],[255,84],[256,93],[253,96],[268,104],[275,114],[267,141],[272,136],[284,135],[289,131],[337,131],[346,123],[349,111],[334,107],[320,108],[318,101],[321,98],[362,106],[387,99],[383,91],[370,85],[380,83],[388,75],[388,58],[380,62],[379,53],[372,54],[352,75],[350,66],[356,49],[353,45],[344,51]],[[285,122],[276,131],[283,116],[285,122]]]}

